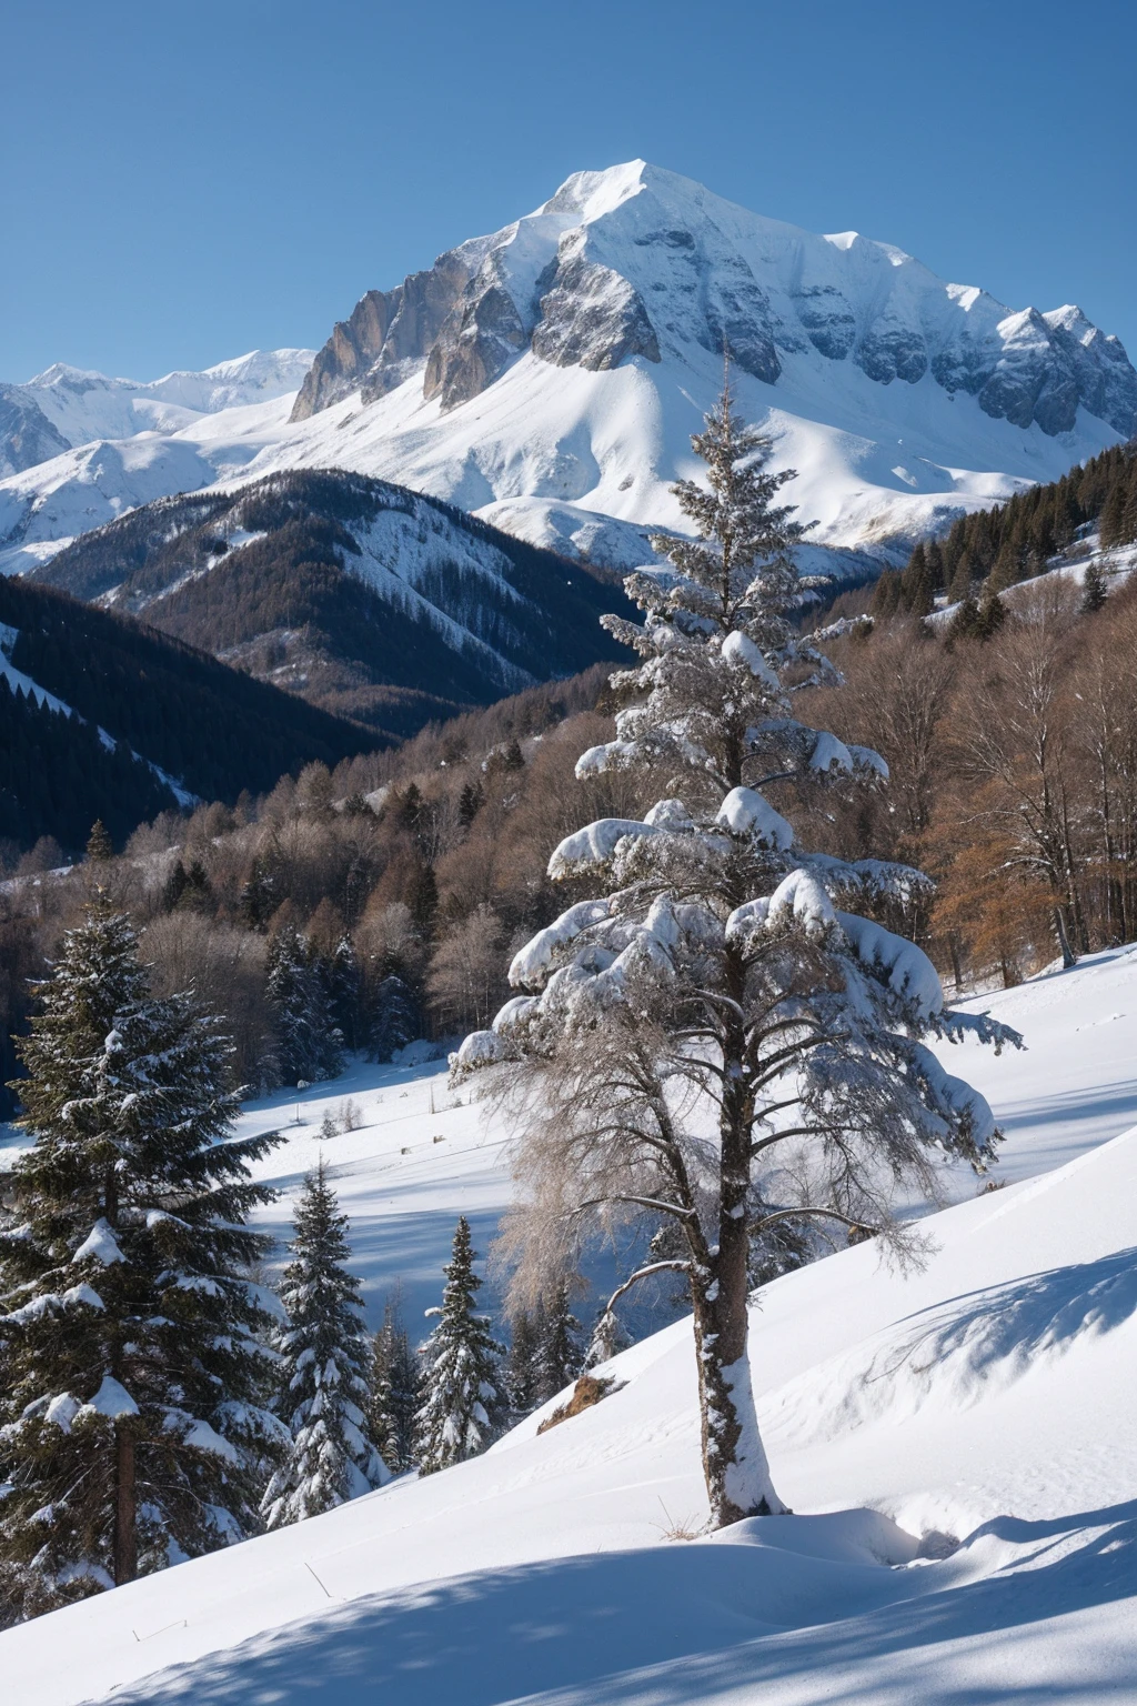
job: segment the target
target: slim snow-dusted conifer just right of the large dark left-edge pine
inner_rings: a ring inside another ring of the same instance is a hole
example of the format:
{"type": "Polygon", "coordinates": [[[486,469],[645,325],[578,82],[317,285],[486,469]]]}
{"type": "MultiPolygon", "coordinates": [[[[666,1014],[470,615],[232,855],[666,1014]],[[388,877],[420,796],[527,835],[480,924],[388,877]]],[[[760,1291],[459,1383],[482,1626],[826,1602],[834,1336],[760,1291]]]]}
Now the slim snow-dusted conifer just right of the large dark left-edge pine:
{"type": "Polygon", "coordinates": [[[324,1162],[303,1182],[293,1216],[291,1261],[280,1288],[286,1324],[276,1336],[280,1407],[291,1448],[261,1501],[268,1529],[344,1505],[389,1479],[366,1421],[370,1346],[348,1216],[339,1213],[324,1162]]]}

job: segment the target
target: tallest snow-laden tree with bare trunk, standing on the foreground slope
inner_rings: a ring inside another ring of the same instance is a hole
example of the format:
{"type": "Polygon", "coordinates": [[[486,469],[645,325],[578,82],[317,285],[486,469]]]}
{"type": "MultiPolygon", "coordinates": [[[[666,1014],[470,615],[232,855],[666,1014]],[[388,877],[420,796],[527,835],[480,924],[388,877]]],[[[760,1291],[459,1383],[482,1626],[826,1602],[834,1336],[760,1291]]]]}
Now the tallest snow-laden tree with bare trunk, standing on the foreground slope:
{"type": "Polygon", "coordinates": [[[921,1037],[1013,1034],[948,1013],[912,942],[840,909],[910,892],[917,872],[796,848],[760,792],[878,785],[886,766],[791,711],[794,691],[834,679],[788,619],[801,529],[776,498],[791,471],[771,471],[772,447],[735,415],[730,384],[692,444],[706,486],[673,490],[697,537],[655,537],[672,566],[626,580],[643,624],[605,618],[641,664],[612,677],[617,739],[576,766],[641,769],[684,797],[557,846],[549,875],[600,894],[520,950],[518,996],[465,1039],[453,1071],[511,1063],[522,1198],[506,1244],[523,1295],[547,1291],[551,1264],[578,1266],[597,1220],[668,1215],[682,1228],[667,1266],[690,1280],[702,1465],[723,1525],[784,1510],[748,1363],[755,1179],[779,1145],[801,1150],[813,1182],[798,1220],[825,1213],[895,1240],[893,1182],[931,1189],[938,1155],[984,1169],[999,1136],[921,1037]]]}

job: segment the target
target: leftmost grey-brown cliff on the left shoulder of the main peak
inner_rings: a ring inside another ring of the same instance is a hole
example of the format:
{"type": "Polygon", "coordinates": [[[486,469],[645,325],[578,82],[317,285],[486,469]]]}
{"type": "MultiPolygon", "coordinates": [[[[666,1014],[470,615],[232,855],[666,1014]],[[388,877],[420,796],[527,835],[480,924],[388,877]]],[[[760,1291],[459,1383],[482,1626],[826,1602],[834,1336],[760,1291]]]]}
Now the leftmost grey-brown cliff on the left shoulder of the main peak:
{"type": "Polygon", "coordinates": [[[373,403],[401,386],[438,336],[474,264],[462,249],[450,249],[394,290],[368,290],[315,357],[291,420],[309,420],[356,387],[373,403]]]}

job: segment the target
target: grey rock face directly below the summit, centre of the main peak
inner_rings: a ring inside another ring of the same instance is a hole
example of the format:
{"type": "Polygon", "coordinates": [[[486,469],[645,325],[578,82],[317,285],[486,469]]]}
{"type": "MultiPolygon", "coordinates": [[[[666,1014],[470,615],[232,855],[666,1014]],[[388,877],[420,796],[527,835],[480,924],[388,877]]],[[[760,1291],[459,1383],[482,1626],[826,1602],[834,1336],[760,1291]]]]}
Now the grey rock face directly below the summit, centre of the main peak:
{"type": "Polygon", "coordinates": [[[542,362],[603,372],[631,355],[660,360],[643,299],[619,273],[569,254],[557,261],[551,283],[534,328],[534,355],[542,362]]]}

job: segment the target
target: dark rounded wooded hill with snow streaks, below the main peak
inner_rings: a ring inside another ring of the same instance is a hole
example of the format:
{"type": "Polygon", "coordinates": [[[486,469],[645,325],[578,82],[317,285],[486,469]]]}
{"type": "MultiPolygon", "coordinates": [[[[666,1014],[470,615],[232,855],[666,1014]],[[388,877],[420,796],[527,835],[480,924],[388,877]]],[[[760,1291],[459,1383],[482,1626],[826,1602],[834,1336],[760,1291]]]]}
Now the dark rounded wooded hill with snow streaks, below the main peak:
{"type": "Polygon", "coordinates": [[[39,578],[382,735],[620,655],[598,624],[619,585],[336,469],[145,505],[39,578]]]}

